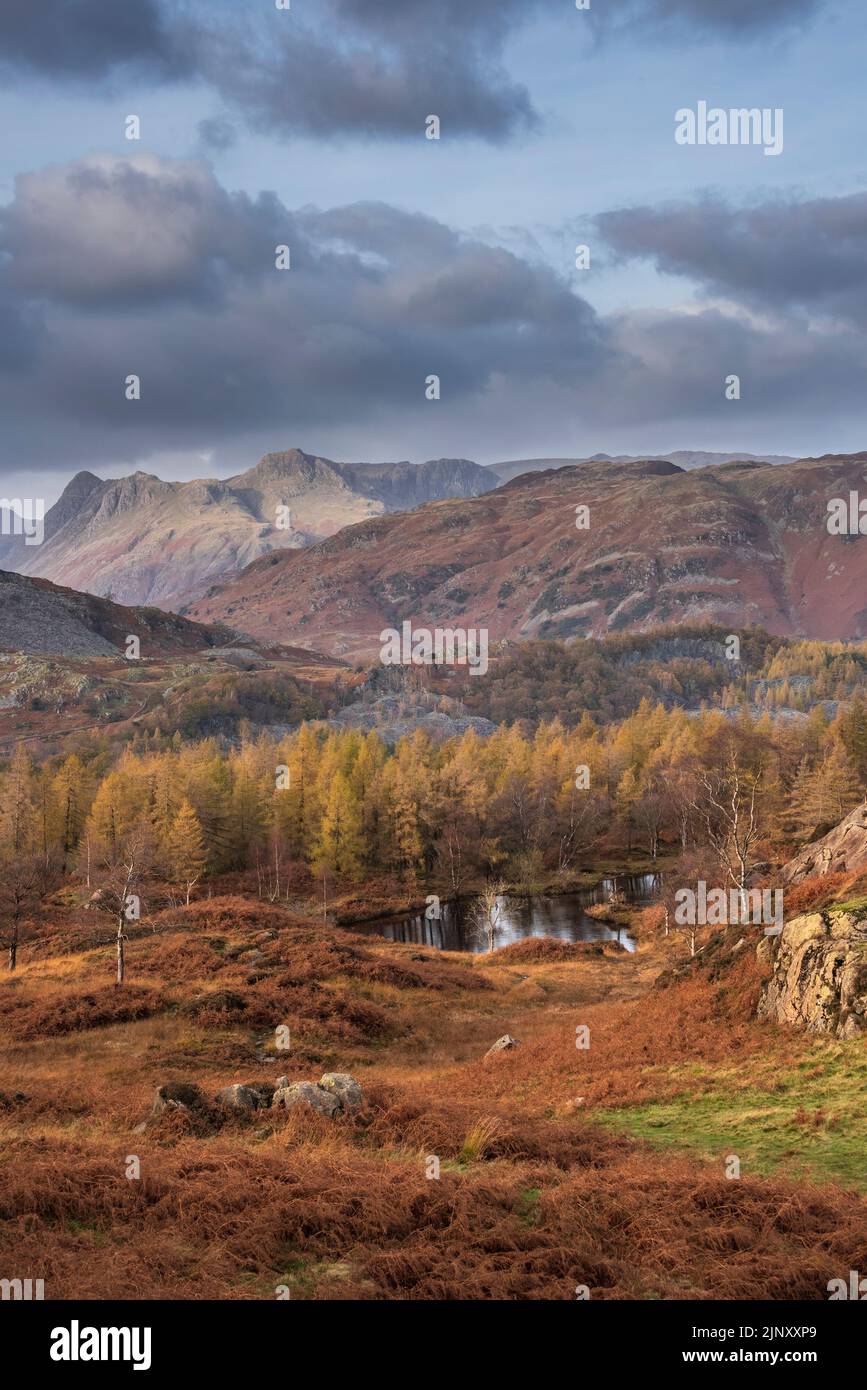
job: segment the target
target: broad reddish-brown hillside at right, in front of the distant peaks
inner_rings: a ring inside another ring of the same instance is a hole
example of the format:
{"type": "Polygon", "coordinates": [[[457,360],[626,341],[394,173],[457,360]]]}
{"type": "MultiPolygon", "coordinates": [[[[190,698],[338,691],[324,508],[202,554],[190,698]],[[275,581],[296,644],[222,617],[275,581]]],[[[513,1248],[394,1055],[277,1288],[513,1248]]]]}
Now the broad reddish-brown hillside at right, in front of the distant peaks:
{"type": "Polygon", "coordinates": [[[867,543],[829,535],[827,503],[863,488],[866,473],[861,453],[527,474],[481,498],[349,527],[303,556],[265,556],[189,613],[363,657],[404,620],[482,626],[490,642],[682,623],[857,638],[867,543]]]}

